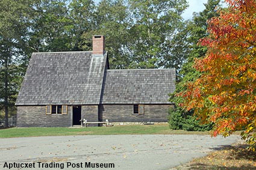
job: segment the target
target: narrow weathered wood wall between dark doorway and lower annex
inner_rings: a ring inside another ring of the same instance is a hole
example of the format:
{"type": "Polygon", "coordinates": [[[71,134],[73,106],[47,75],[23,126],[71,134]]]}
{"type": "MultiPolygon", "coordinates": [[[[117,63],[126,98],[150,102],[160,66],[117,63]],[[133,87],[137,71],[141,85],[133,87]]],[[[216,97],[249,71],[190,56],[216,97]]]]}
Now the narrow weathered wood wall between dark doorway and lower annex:
{"type": "MultiPolygon", "coordinates": [[[[98,105],[84,105],[82,106],[82,119],[90,122],[99,121],[98,105]]],[[[88,126],[98,126],[98,124],[89,124],[88,126]]]]}

